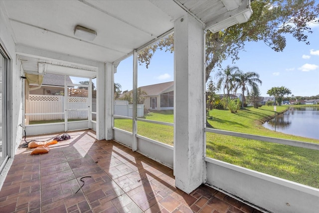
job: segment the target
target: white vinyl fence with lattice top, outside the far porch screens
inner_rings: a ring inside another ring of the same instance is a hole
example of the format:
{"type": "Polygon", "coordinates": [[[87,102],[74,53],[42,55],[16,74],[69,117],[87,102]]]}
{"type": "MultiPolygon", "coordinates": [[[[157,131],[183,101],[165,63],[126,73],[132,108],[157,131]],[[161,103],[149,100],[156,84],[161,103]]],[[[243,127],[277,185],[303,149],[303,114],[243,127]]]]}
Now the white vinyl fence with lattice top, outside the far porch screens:
{"type": "MultiPolygon", "coordinates": [[[[61,95],[29,95],[25,101],[26,114],[37,113],[39,115],[28,115],[29,121],[58,120],[64,119],[64,96],[61,95]],[[63,113],[63,114],[41,114],[41,113],[63,113]]],[[[89,103],[86,97],[68,97],[68,119],[87,119],[89,103]],[[74,110],[73,110],[74,109],[74,110]],[[80,110],[75,110],[80,109],[80,110]],[[82,109],[82,110],[81,110],[82,109]]],[[[92,112],[96,112],[96,99],[92,98],[92,112]]],[[[132,117],[133,106],[128,101],[115,101],[114,114],[132,117]]],[[[96,115],[92,115],[92,118],[96,115]]],[[[138,104],[138,117],[144,116],[144,105],[138,104]]],[[[93,119],[94,119],[93,118],[93,119]]]]}

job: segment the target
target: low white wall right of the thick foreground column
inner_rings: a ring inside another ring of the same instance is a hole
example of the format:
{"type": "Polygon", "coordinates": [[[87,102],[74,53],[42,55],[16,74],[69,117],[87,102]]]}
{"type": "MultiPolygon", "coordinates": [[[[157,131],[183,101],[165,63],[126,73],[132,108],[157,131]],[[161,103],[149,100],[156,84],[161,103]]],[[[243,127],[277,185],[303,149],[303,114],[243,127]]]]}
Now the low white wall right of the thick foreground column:
{"type": "Polygon", "coordinates": [[[319,189],[205,158],[207,185],[274,213],[315,213],[319,189]]]}

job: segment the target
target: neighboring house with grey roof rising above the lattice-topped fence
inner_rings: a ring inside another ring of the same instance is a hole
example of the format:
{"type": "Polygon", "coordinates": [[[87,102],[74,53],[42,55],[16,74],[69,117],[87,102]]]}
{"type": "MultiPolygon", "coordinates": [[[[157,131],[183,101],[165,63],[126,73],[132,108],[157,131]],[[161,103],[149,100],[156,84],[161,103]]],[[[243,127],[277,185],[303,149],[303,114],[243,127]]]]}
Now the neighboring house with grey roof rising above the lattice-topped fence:
{"type": "MultiPolygon", "coordinates": [[[[71,78],[66,76],[66,83],[73,84],[71,78]]],[[[74,86],[72,86],[73,88],[74,86]]],[[[31,95],[64,95],[64,75],[46,73],[43,76],[42,84],[29,85],[31,95]]]]}

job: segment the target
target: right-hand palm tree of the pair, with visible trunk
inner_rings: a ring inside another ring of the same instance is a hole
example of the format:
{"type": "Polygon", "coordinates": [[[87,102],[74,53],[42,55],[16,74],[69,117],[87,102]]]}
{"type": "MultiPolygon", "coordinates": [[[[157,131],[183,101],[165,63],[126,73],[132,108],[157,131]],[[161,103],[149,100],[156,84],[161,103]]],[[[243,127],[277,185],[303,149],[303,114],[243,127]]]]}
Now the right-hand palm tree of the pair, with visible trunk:
{"type": "Polygon", "coordinates": [[[238,82],[239,88],[241,88],[241,95],[242,95],[242,105],[241,107],[244,108],[245,96],[244,93],[247,90],[247,87],[250,86],[252,88],[258,88],[257,83],[260,85],[262,81],[259,79],[259,74],[256,72],[236,72],[234,74],[235,81],[238,82]]]}

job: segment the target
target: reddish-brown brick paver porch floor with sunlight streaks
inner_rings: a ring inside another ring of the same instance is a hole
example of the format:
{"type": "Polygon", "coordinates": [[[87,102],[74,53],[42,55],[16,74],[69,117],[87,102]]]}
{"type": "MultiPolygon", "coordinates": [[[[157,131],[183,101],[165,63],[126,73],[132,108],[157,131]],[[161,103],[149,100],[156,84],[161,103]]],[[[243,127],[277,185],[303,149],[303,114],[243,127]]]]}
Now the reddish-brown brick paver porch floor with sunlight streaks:
{"type": "Polygon", "coordinates": [[[1,213],[260,213],[204,185],[187,195],[175,188],[171,169],[115,141],[97,141],[94,131],[69,135],[47,154],[17,150],[0,191],[1,213]]]}

